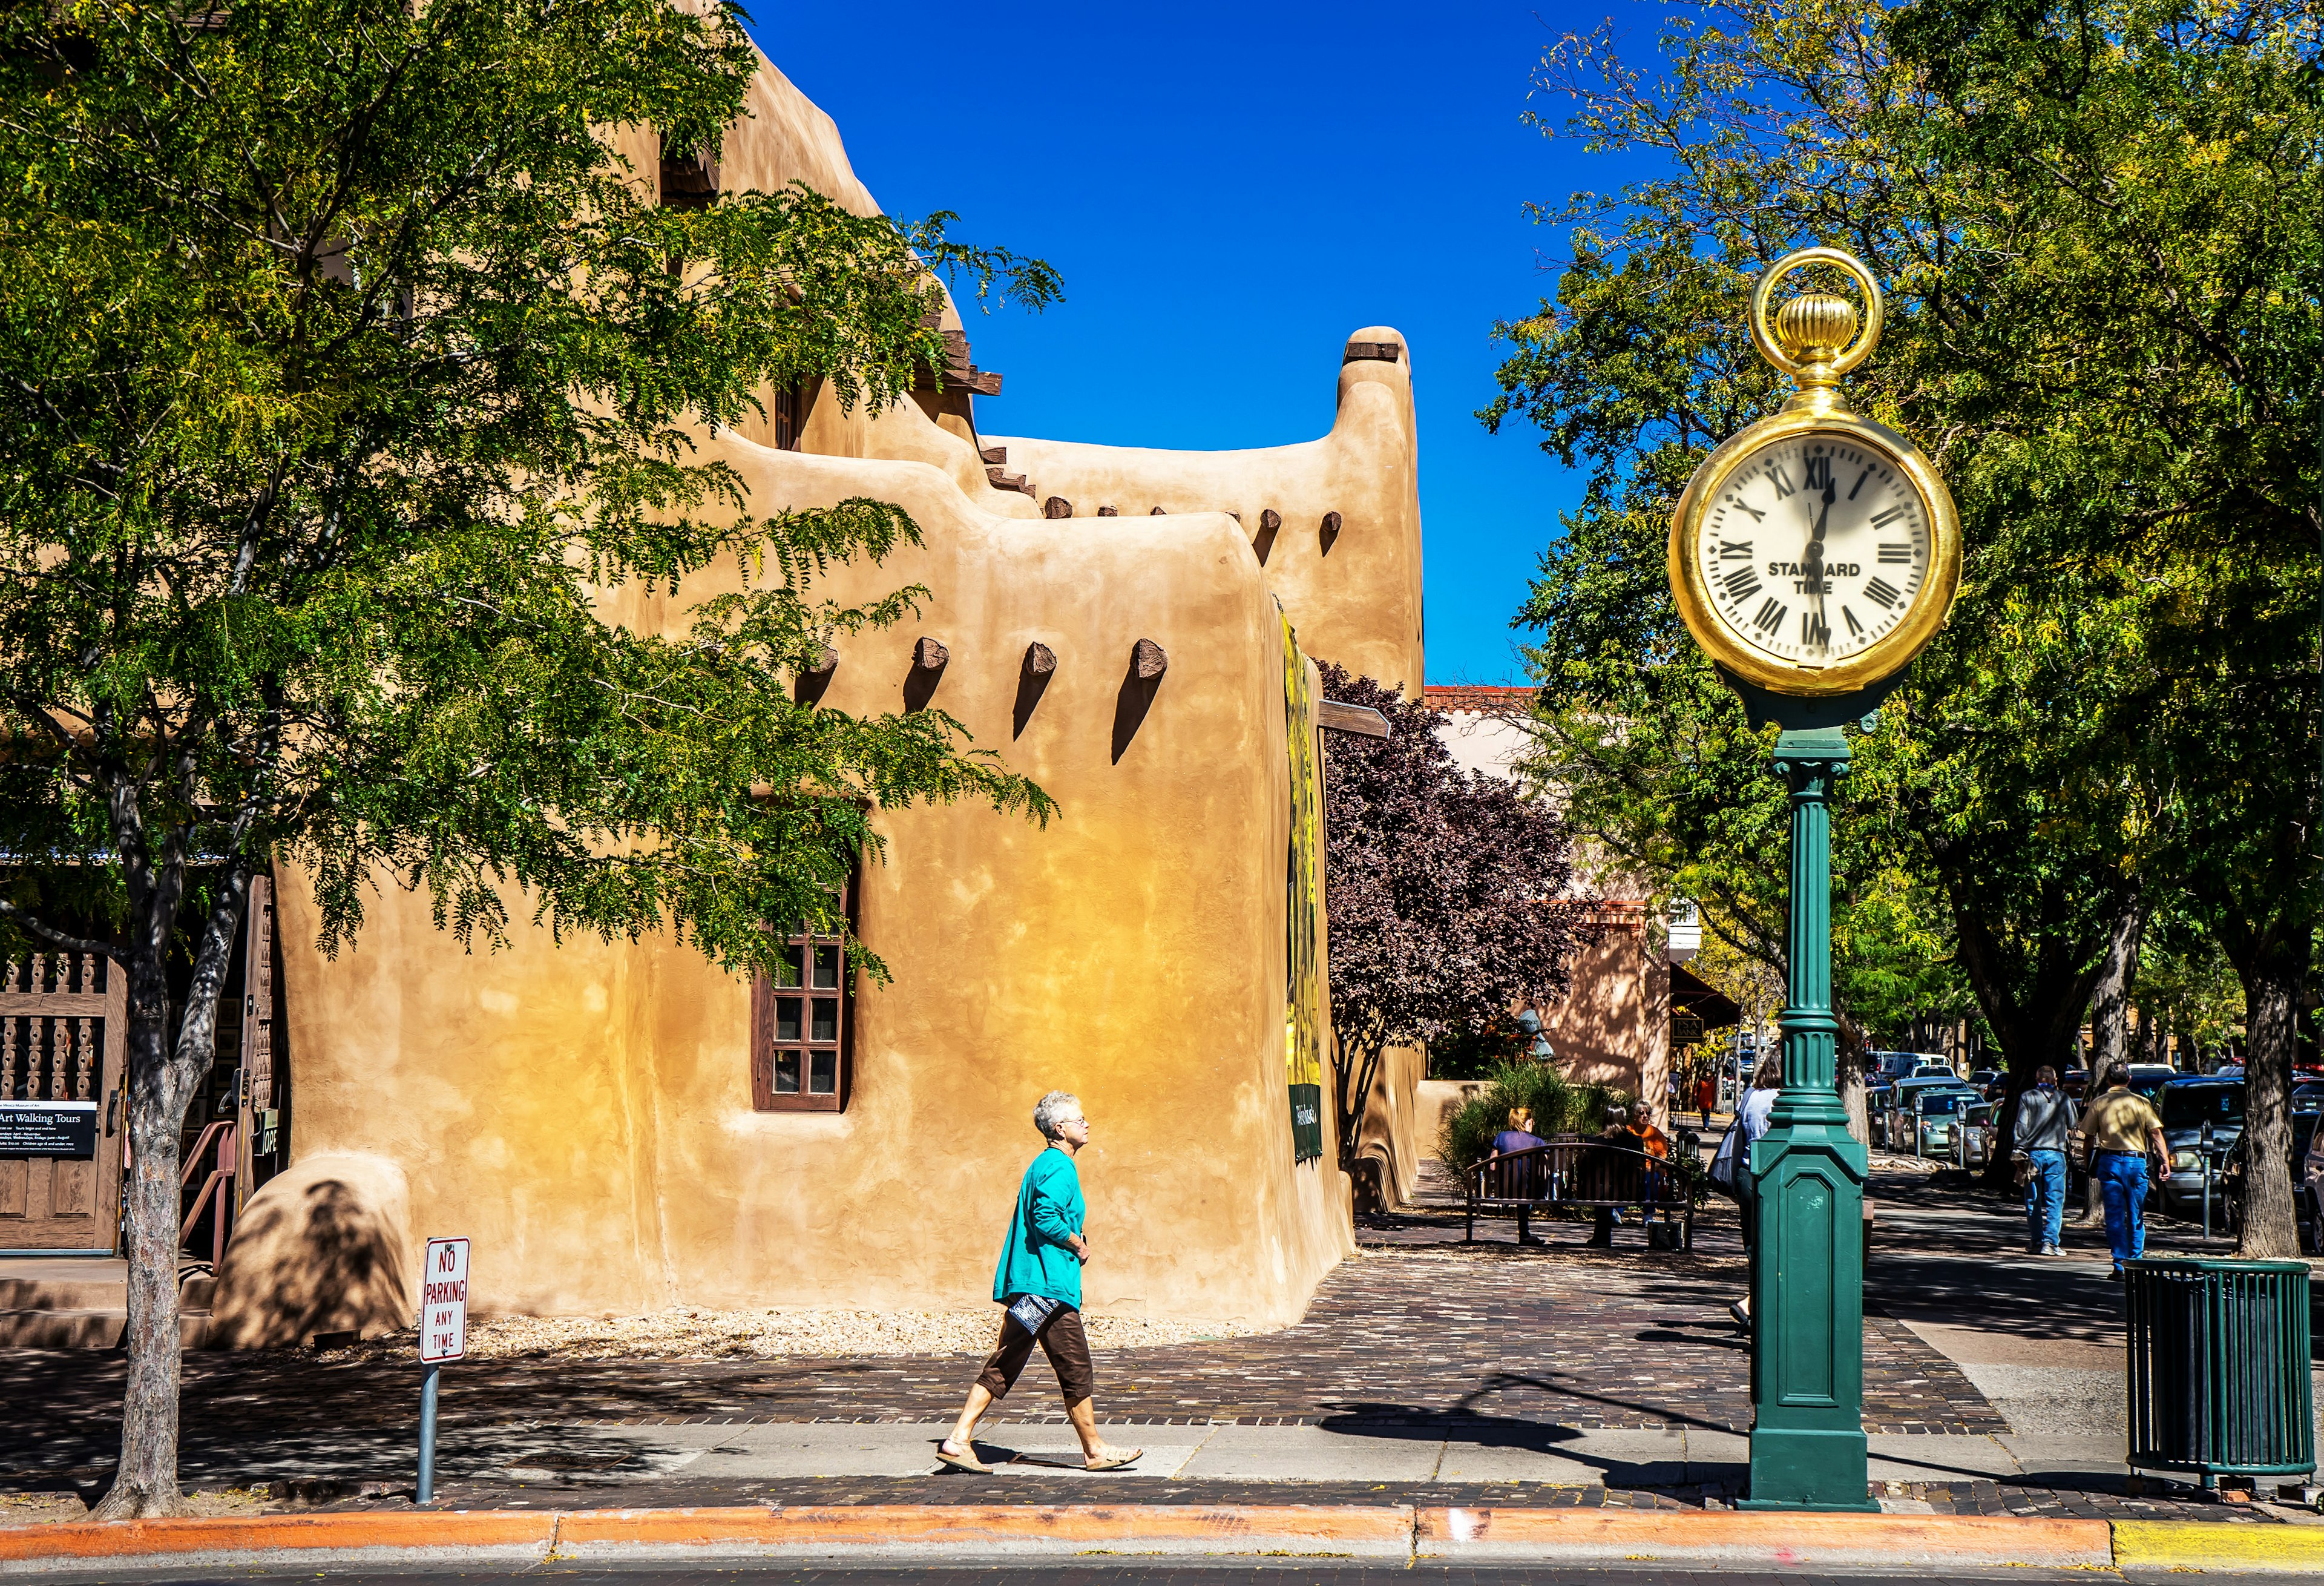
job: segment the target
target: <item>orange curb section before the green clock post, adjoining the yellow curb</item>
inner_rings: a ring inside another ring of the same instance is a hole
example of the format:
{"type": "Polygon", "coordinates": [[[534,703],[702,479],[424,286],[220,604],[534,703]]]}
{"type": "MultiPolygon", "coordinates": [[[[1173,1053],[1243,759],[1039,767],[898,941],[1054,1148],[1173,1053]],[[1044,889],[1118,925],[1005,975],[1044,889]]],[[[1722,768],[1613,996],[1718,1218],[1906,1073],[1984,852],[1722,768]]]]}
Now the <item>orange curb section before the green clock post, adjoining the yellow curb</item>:
{"type": "Polygon", "coordinates": [[[2106,1521],[2015,1514],[1420,1509],[1420,1558],[2108,1565],[2106,1521]]]}

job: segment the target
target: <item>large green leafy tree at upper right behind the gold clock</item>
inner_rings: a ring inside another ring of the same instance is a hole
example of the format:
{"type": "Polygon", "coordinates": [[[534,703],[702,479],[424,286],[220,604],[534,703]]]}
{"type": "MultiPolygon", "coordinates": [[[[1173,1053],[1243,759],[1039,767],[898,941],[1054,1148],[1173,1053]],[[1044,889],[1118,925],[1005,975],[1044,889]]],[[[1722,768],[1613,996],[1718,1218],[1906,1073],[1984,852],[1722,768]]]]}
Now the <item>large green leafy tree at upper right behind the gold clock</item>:
{"type": "MultiPolygon", "coordinates": [[[[1594,446],[1606,505],[1659,516],[1759,379],[1750,277],[1857,251],[1889,281],[1857,405],[1922,440],[1968,533],[1952,630],[1882,712],[1906,753],[1859,777],[1945,881],[2013,1081],[2119,981],[2157,895],[2208,898],[2289,1009],[2319,765],[2312,9],[1736,0],[1680,12],[1662,58],[1545,58],[1587,147],[1669,174],[1543,212],[1576,258],[1511,328],[1487,419],[1594,446]]],[[[2247,1246],[2289,1239],[2284,1188],[2247,1246]]]]}

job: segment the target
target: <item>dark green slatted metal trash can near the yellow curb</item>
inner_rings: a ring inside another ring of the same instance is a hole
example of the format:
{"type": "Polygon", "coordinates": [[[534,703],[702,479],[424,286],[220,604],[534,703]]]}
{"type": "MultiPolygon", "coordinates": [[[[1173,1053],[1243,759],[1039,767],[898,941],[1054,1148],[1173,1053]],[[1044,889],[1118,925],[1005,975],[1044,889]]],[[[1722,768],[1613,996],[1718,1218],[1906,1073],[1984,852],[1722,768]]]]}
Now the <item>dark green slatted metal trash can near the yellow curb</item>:
{"type": "Polygon", "coordinates": [[[2305,1263],[2126,1260],[2122,1279],[2131,1465],[2203,1486],[2317,1467],[2305,1263]]]}

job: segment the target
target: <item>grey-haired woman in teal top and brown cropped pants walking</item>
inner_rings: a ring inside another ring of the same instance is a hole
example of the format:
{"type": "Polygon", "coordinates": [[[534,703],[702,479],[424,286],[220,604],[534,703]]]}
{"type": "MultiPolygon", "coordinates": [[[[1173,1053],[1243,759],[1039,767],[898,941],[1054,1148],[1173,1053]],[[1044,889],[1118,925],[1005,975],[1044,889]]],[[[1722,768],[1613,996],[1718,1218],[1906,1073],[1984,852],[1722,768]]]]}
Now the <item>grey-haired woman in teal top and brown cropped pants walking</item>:
{"type": "Polygon", "coordinates": [[[953,1470],[992,1474],[976,1458],[976,1419],[992,1400],[1009,1395],[1039,1342],[1057,1372],[1083,1463],[1090,1470],[1120,1470],[1146,1449],[1122,1453],[1097,1433],[1097,1374],[1090,1367],[1090,1335],[1081,1328],[1081,1267],[1090,1260],[1090,1235],[1083,1230],[1081,1174],[1074,1170],[1074,1156],[1090,1144],[1090,1121],[1076,1095],[1050,1091],[1034,1105],[1032,1126],[1048,1144],[1025,1170],[1002,1263],[992,1272],[992,1298],[1009,1307],[1002,1312],[1002,1337],[976,1374],[953,1435],[937,1444],[937,1458],[953,1470]]]}

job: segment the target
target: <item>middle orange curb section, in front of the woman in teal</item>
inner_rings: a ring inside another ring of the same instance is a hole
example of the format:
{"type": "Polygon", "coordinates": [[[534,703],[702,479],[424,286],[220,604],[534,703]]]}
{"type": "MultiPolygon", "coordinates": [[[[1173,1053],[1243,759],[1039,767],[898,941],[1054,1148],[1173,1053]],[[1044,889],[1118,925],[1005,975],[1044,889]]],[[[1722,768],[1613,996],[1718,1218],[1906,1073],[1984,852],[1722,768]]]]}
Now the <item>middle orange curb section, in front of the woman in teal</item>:
{"type": "Polygon", "coordinates": [[[558,1558],[716,1551],[1364,1551],[1408,1556],[1408,1507],[1348,1505],[844,1505],[597,1509],[558,1523],[558,1558]]]}

